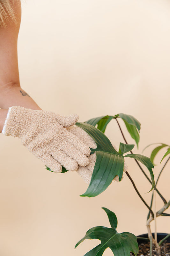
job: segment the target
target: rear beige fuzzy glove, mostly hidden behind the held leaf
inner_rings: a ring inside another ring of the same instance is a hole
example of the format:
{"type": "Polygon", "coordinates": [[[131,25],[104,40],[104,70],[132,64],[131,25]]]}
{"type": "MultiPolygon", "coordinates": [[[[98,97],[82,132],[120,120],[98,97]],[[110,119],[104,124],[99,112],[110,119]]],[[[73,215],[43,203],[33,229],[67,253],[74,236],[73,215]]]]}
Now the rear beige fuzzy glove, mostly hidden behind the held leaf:
{"type": "MultiPolygon", "coordinates": [[[[80,140],[83,141],[85,143],[85,145],[87,145],[88,147],[90,147],[90,148],[96,148],[97,147],[96,142],[82,128],[80,128],[78,126],[71,126],[71,127],[67,128],[67,130],[70,131],[75,136],[79,137],[80,140]]],[[[113,147],[115,148],[114,145],[113,145],[113,147]]],[[[93,169],[94,169],[94,165],[96,163],[96,154],[94,153],[94,154],[90,155],[88,157],[88,159],[89,159],[89,164],[87,164],[85,167],[84,166],[79,166],[77,172],[84,179],[84,181],[87,184],[90,184],[93,169]]],[[[124,163],[124,170],[123,171],[127,171],[126,163],[124,163]]],[[[116,177],[113,180],[118,182],[119,181],[119,176],[116,175],[116,177]]]]}

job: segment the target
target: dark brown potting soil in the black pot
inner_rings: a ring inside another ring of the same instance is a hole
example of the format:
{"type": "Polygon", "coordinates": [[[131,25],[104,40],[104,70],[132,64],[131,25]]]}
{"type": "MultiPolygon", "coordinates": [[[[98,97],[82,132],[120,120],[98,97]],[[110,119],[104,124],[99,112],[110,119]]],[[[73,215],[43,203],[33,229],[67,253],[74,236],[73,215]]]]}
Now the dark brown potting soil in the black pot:
{"type": "MultiPolygon", "coordinates": [[[[150,243],[142,243],[139,244],[139,253],[137,256],[149,256],[150,253],[150,243]]],[[[130,253],[130,256],[135,255],[134,253],[130,253]]],[[[152,256],[170,256],[170,243],[163,242],[161,244],[161,253],[157,253],[157,250],[155,248],[155,245],[153,245],[152,248],[152,256]]]]}

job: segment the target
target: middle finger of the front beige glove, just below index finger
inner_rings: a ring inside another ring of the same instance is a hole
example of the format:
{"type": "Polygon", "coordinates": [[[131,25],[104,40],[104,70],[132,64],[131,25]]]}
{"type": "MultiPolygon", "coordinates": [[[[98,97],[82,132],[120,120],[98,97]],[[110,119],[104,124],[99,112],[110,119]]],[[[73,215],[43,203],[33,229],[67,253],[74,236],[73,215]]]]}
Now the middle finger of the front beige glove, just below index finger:
{"type": "Polygon", "coordinates": [[[88,158],[81,153],[77,148],[68,143],[67,141],[62,141],[58,146],[66,155],[70,156],[72,159],[77,161],[78,165],[86,166],[89,164],[88,158]]]}

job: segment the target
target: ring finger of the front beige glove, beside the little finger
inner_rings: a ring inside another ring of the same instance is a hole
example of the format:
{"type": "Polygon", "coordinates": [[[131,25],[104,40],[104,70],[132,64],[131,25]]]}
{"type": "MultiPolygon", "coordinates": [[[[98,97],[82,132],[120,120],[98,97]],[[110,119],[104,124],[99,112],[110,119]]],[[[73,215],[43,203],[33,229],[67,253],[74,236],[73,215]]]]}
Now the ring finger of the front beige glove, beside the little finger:
{"type": "Polygon", "coordinates": [[[50,151],[50,154],[53,156],[55,160],[57,160],[63,167],[69,171],[76,171],[78,169],[78,163],[67,156],[63,151],[56,148],[50,151]]]}

